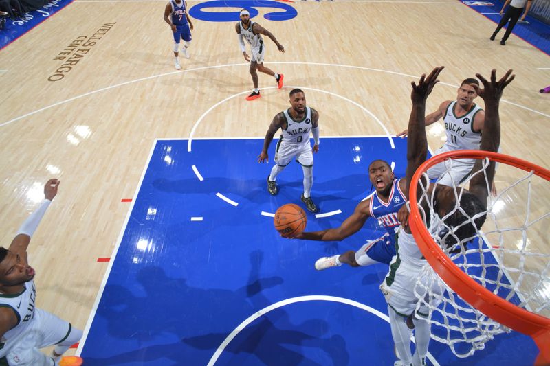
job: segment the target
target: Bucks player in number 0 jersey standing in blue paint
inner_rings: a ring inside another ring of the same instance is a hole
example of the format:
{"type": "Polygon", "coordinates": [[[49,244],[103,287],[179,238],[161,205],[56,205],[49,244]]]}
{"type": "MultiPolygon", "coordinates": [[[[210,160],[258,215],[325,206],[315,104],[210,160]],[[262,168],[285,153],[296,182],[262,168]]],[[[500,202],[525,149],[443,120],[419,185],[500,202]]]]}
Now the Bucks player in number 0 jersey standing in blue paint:
{"type": "Polygon", "coordinates": [[[263,150],[258,155],[258,162],[269,163],[267,149],[277,130],[281,128],[283,134],[275,150],[275,165],[271,174],[267,176],[267,190],[272,196],[278,193],[275,179],[287,165],[296,157],[304,171],[304,193],[300,197],[305,207],[311,212],[317,212],[317,206],[311,199],[311,186],[314,184],[314,155],[319,151],[319,113],[314,108],[305,105],[305,93],[300,89],[290,91],[290,105],[287,111],[278,113],[265,134],[263,150]],[[315,145],[311,148],[309,132],[314,135],[315,145]]]}

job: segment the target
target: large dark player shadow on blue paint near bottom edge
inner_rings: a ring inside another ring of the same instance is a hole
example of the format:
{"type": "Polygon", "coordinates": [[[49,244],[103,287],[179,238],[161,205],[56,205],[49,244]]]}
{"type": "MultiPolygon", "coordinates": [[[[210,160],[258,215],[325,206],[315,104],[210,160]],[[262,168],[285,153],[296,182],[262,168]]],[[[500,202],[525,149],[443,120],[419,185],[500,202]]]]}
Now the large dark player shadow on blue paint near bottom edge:
{"type": "MultiPolygon", "coordinates": [[[[250,253],[250,262],[248,284],[235,291],[189,286],[186,279],[170,278],[157,266],[146,266],[137,272],[136,281],[142,286],[143,295],[135,295],[135,291],[122,286],[107,286],[98,316],[107,321],[109,335],[148,345],[106,358],[86,358],[86,364],[206,364],[225,337],[245,320],[232,319],[228,327],[214,321],[212,312],[216,313],[215,319],[231,319],[232,314],[242,313],[245,306],[245,312],[252,315],[271,305],[263,292],[283,284],[282,277],[260,276],[263,252],[250,253]],[[217,332],[201,334],[201,329],[217,332]],[[188,358],[190,347],[202,350],[206,358],[188,358]]],[[[277,308],[239,332],[220,360],[224,365],[260,361],[265,365],[322,365],[300,352],[301,347],[307,347],[318,348],[322,358],[334,365],[347,365],[349,356],[344,339],[339,335],[323,336],[328,329],[327,321],[320,319],[294,323],[285,310],[277,308]]]]}

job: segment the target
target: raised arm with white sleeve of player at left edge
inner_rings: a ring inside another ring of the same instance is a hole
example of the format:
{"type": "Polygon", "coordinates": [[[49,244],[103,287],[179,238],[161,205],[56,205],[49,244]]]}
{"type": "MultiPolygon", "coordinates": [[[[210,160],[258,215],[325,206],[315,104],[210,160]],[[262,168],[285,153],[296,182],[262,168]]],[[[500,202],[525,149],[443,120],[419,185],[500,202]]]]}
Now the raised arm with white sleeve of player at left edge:
{"type": "Polygon", "coordinates": [[[30,238],[36,231],[36,228],[39,226],[44,214],[50,203],[57,194],[57,189],[59,187],[60,181],[58,179],[50,179],[44,186],[44,201],[41,203],[40,207],[36,209],[28,218],[23,222],[23,225],[17,231],[17,235],[12,240],[10,244],[9,251],[18,253],[23,256],[25,260],[27,259],[27,248],[29,247],[30,238]]]}

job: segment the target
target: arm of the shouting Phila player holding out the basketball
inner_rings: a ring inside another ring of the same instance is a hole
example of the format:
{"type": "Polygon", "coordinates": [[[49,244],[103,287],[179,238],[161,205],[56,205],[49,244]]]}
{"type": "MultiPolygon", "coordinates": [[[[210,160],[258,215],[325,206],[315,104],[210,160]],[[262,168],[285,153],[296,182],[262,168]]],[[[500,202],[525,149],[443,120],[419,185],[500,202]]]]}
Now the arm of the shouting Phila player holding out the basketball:
{"type": "Polygon", "coordinates": [[[371,199],[362,201],[355,207],[353,214],[349,216],[340,227],[321,231],[312,231],[301,233],[296,236],[296,239],[319,240],[322,242],[338,242],[344,240],[348,236],[360,231],[366,222],[366,219],[371,217],[371,199]]]}

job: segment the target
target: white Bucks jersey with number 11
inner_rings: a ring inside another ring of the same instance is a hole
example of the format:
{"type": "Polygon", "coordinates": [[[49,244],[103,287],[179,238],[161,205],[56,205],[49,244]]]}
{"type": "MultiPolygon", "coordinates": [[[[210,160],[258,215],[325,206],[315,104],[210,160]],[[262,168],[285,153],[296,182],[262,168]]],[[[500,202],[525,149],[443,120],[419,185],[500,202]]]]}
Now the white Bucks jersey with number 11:
{"type": "Polygon", "coordinates": [[[445,142],[445,150],[479,150],[481,144],[481,131],[474,132],[474,118],[481,111],[481,108],[474,104],[474,108],[462,117],[456,117],[454,114],[454,106],[456,100],[449,104],[445,111],[445,133],[447,134],[447,142],[445,142]]]}

